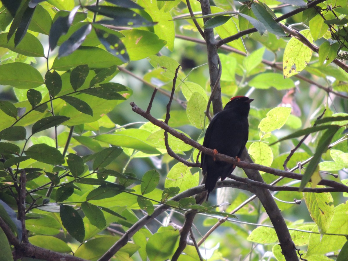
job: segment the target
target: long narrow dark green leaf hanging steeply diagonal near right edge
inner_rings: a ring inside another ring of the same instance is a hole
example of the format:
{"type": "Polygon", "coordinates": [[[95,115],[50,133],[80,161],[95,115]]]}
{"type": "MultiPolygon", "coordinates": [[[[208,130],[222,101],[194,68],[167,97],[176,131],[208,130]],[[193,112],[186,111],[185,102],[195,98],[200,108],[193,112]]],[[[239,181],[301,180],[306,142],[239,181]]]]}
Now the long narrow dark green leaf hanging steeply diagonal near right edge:
{"type": "Polygon", "coordinates": [[[315,169],[317,168],[319,164],[322,154],[327,150],[327,147],[330,145],[332,137],[340,128],[340,126],[337,126],[337,125],[329,125],[328,127],[329,128],[327,128],[326,132],[320,138],[317,149],[313,155],[313,158],[310,160],[307,166],[307,169],[302,176],[299,191],[302,191],[302,189],[306,187],[307,183],[309,182],[311,176],[313,175],[315,169]]]}

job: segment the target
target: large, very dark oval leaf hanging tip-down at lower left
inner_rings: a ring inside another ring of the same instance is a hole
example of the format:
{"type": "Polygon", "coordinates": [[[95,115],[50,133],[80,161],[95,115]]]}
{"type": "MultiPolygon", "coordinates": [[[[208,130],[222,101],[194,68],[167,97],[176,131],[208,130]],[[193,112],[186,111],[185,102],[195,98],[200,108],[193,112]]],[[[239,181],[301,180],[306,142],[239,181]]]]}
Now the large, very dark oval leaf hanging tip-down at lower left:
{"type": "Polygon", "coordinates": [[[64,228],[78,242],[84,242],[85,226],[80,214],[71,206],[61,204],[60,217],[64,228]]]}

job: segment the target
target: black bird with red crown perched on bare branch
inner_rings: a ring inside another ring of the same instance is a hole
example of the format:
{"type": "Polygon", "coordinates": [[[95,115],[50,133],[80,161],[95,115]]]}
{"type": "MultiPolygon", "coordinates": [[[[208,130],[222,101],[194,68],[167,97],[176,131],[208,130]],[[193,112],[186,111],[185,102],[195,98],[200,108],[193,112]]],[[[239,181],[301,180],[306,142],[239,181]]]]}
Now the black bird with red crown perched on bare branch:
{"type": "MultiPolygon", "coordinates": [[[[253,99],[245,96],[236,96],[226,104],[224,109],[217,113],[210,122],[204,136],[203,146],[216,149],[217,152],[230,157],[240,157],[248,140],[248,114],[253,99]]],[[[206,175],[205,188],[209,193],[214,189],[219,178],[226,179],[235,166],[224,161],[214,160],[212,156],[202,152],[202,171],[206,175]]]]}

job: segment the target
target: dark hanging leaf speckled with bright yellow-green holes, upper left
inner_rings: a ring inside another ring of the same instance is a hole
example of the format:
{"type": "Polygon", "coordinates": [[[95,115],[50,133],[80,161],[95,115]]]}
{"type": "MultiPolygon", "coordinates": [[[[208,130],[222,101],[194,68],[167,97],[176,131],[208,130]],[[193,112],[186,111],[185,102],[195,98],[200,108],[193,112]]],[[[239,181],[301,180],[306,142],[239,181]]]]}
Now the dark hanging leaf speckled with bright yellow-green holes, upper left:
{"type": "MultiPolygon", "coordinates": [[[[94,30],[97,34],[99,41],[104,45],[106,50],[114,56],[118,57],[122,62],[126,63],[129,61],[129,55],[127,53],[126,47],[120,39],[119,33],[113,31],[107,27],[108,30],[102,30],[98,28],[102,26],[100,24],[94,24],[94,30]]],[[[104,27],[104,26],[102,26],[104,27]]]]}

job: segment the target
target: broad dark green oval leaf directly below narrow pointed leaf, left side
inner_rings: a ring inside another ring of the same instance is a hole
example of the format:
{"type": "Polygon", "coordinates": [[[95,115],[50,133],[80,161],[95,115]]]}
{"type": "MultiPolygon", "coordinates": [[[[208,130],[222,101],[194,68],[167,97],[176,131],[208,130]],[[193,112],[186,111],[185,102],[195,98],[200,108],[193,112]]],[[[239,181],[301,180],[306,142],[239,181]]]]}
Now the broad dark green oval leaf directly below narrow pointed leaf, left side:
{"type": "Polygon", "coordinates": [[[44,143],[32,145],[25,151],[25,155],[47,164],[60,165],[64,163],[62,153],[44,143]]]}

